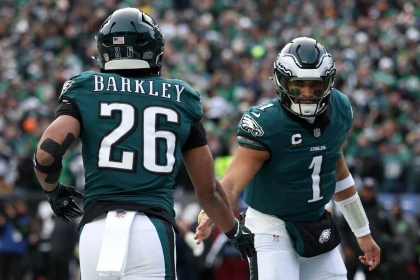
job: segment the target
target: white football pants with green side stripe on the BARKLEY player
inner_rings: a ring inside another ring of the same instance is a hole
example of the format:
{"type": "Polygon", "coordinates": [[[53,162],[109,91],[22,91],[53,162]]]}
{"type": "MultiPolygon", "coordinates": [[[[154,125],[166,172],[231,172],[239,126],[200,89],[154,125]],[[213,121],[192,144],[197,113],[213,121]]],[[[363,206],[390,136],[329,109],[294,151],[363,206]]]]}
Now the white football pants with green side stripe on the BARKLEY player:
{"type": "Polygon", "coordinates": [[[96,271],[106,214],[83,227],[79,242],[81,280],[174,280],[175,232],[171,224],[136,213],[130,229],[125,269],[121,276],[96,271]]]}

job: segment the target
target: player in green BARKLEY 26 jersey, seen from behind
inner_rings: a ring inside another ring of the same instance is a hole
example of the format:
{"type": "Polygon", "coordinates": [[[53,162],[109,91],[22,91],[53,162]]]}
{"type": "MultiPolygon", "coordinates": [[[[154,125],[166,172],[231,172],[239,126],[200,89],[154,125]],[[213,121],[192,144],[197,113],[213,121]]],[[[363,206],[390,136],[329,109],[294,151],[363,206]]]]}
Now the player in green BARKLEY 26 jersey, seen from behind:
{"type": "Polygon", "coordinates": [[[115,11],[97,35],[101,72],[67,81],[56,119],[34,156],[58,218],[82,215],[82,279],[176,279],[174,179],[183,160],[197,198],[243,258],[253,234],[232,214],[215,179],[200,95],[160,76],[164,38],[147,14],[115,11]],[[59,182],[62,156],[80,138],[85,193],[59,182]]]}

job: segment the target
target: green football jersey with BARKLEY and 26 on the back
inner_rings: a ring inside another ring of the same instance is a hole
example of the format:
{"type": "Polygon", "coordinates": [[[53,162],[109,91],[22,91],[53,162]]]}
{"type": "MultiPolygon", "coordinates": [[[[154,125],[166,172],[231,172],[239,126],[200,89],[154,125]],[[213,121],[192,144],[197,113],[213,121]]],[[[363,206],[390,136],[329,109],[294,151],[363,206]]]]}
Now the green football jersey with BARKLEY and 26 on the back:
{"type": "Polygon", "coordinates": [[[173,186],[200,95],[160,76],[84,72],[67,81],[61,102],[80,110],[85,207],[94,201],[158,206],[174,214],[173,186]]]}

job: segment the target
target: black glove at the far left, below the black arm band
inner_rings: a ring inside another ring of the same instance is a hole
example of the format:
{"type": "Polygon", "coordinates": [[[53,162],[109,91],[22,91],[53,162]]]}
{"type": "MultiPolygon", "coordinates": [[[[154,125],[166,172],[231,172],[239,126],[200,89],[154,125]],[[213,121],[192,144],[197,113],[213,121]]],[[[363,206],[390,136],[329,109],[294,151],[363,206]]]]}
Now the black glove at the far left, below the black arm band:
{"type": "Polygon", "coordinates": [[[54,214],[65,222],[70,222],[70,218],[82,216],[83,212],[73,200],[73,197],[82,199],[83,194],[78,192],[73,186],[58,183],[55,190],[48,192],[44,190],[54,214]]]}

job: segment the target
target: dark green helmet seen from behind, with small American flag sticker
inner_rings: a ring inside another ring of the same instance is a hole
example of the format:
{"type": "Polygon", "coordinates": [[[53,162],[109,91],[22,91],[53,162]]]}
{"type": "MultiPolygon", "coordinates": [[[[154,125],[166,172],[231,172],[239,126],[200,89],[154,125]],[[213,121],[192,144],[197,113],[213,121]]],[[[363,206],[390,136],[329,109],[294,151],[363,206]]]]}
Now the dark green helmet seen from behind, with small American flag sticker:
{"type": "Polygon", "coordinates": [[[165,40],[146,13],[135,8],[116,10],[95,38],[101,71],[150,69],[160,74],[165,40]]]}

